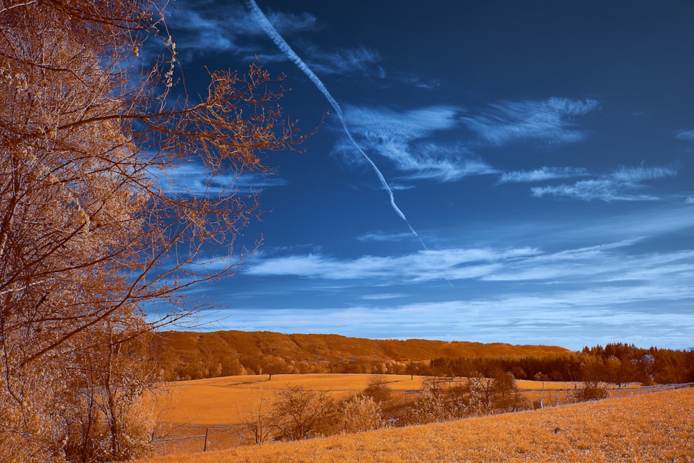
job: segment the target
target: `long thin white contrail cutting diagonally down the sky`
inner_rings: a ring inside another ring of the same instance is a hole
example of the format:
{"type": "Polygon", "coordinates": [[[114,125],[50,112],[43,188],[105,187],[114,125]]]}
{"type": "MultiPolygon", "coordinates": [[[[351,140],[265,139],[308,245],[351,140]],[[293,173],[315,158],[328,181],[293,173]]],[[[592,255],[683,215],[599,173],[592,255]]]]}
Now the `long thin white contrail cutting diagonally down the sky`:
{"type": "MultiPolygon", "coordinates": [[[[409,228],[409,231],[412,232],[412,235],[416,236],[419,238],[419,235],[417,232],[412,228],[412,225],[409,224],[409,220],[407,220],[407,217],[405,217],[405,214],[403,214],[403,211],[398,208],[398,205],[395,203],[395,196],[393,196],[393,190],[391,190],[390,185],[388,185],[388,182],[386,181],[386,178],[383,176],[381,171],[376,167],[376,165],[373,163],[371,158],[369,158],[366,153],[364,153],[364,150],[357,144],[357,142],[354,140],[354,137],[352,136],[352,133],[349,131],[347,128],[347,124],[345,122],[344,118],[344,113],[342,112],[342,108],[340,108],[339,103],[335,101],[335,98],[332,97],[330,92],[328,92],[328,89],[325,87],[321,79],[314,74],[314,72],[306,65],[305,62],[299,56],[294,53],[294,50],[289,47],[289,44],[285,41],[285,39],[282,38],[282,35],[278,33],[277,29],[270,23],[269,19],[265,16],[264,12],[257,6],[257,3],[255,3],[255,0],[247,0],[248,6],[251,8],[251,12],[253,12],[253,15],[255,15],[255,19],[257,19],[257,22],[260,23],[260,26],[263,28],[265,33],[269,35],[269,37],[275,42],[275,44],[282,50],[285,55],[287,55],[287,58],[291,60],[291,62],[294,62],[294,64],[303,71],[308,78],[318,87],[318,90],[321,91],[321,93],[325,96],[326,99],[328,99],[328,102],[330,105],[332,105],[333,108],[335,108],[335,114],[337,114],[337,118],[340,119],[340,123],[342,124],[342,128],[344,128],[345,133],[347,134],[347,137],[350,139],[350,142],[355,146],[357,151],[359,153],[362,153],[362,156],[364,156],[364,159],[366,159],[366,162],[369,162],[369,165],[371,165],[371,168],[373,168],[373,171],[376,173],[378,176],[378,179],[381,181],[381,185],[386,189],[388,192],[388,196],[390,196],[391,200],[391,206],[393,206],[393,210],[400,216],[400,219],[403,219],[405,221],[405,224],[407,224],[407,227],[409,228]]],[[[421,242],[421,239],[419,240],[421,242]]],[[[422,243],[422,246],[424,246],[424,249],[427,249],[427,246],[422,243]]]]}

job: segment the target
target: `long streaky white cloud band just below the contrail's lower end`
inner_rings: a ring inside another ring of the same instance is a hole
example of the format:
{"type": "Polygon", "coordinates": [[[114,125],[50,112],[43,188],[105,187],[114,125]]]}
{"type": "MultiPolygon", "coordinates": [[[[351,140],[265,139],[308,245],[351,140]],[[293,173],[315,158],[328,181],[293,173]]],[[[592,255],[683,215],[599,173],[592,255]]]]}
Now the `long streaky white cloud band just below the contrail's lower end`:
{"type": "MultiPolygon", "coordinates": [[[[316,280],[362,280],[423,283],[475,279],[486,282],[605,285],[614,282],[679,283],[694,275],[694,251],[633,253],[642,239],[555,252],[516,249],[443,249],[400,256],[341,260],[327,255],[289,255],[261,259],[246,273],[254,276],[296,276],[316,280]]],[[[670,284],[668,283],[668,284],[670,284]]],[[[687,283],[688,285],[688,283],[687,283]]]]}

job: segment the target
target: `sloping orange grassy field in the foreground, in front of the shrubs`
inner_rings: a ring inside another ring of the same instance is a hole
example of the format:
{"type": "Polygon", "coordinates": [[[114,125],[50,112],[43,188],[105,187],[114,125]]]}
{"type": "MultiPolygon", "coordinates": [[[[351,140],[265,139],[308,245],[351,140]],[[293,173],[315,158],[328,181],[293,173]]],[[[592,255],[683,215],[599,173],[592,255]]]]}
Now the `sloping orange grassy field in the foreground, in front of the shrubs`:
{"type": "MultiPolygon", "coordinates": [[[[274,379],[273,379],[274,380],[274,379]]],[[[694,461],[694,389],[149,463],[694,461]]]]}

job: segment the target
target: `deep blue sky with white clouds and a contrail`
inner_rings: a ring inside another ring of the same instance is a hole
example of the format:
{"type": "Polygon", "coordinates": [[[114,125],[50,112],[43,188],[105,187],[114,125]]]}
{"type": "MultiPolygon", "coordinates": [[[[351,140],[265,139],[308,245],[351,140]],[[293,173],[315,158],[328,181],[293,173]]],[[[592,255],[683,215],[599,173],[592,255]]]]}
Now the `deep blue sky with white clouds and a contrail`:
{"type": "Polygon", "coordinates": [[[694,346],[694,3],[255,2],[169,10],[186,85],[257,59],[325,122],[198,329],[694,346]]]}

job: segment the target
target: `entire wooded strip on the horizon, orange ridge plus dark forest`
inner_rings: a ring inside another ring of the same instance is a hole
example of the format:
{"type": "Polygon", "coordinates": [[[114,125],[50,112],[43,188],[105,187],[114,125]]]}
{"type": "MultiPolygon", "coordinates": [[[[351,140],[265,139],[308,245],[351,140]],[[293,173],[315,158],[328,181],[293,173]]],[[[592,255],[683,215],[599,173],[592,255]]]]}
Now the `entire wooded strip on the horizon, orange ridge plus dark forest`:
{"type": "Polygon", "coordinates": [[[694,351],[627,344],[513,346],[428,339],[361,339],[277,332],[162,332],[156,362],[165,380],[283,373],[496,376],[519,380],[668,384],[694,382],[694,351]]]}

